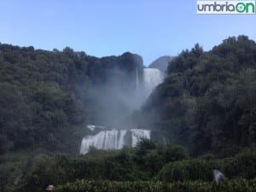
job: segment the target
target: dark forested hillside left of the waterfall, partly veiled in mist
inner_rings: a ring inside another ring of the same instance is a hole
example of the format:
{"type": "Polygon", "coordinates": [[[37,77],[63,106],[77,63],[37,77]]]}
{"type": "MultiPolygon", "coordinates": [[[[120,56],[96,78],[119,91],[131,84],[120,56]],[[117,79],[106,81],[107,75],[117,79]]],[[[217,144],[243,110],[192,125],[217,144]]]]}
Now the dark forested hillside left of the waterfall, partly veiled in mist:
{"type": "Polygon", "coordinates": [[[89,90],[115,78],[135,86],[136,68],[142,71],[143,60],[131,53],[96,58],[68,47],[0,44],[0,154],[38,147],[78,153],[83,127],[101,110],[102,97],[89,90]]]}

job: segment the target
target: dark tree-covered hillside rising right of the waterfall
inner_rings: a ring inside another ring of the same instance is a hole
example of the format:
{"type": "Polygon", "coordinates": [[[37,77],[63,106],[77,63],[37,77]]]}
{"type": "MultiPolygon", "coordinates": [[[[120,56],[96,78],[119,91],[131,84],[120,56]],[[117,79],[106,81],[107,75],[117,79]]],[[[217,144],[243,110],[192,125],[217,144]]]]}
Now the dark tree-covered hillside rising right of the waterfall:
{"type": "Polygon", "coordinates": [[[231,153],[256,141],[256,44],[227,38],[174,58],[143,106],[143,123],[165,131],[193,154],[231,153]]]}

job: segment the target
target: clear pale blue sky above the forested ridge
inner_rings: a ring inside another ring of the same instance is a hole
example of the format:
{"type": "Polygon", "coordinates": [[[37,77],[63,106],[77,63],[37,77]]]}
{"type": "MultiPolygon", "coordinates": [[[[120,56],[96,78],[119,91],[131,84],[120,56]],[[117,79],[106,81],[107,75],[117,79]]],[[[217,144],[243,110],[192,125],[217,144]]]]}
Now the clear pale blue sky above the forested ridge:
{"type": "Polygon", "coordinates": [[[256,15],[196,15],[195,0],[0,1],[2,44],[69,46],[99,57],[130,51],[142,55],[145,66],[240,34],[256,40],[256,15]]]}

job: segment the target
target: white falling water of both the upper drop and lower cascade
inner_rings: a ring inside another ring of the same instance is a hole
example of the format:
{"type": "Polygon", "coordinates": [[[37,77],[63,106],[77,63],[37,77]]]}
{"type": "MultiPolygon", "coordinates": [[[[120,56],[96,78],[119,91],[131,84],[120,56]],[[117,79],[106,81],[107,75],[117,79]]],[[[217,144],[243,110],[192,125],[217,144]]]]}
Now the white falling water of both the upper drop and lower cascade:
{"type": "MultiPolygon", "coordinates": [[[[140,89],[138,69],[136,69],[136,95],[140,101],[140,103],[137,103],[138,108],[140,107],[141,103],[144,102],[145,99],[150,95],[152,90],[154,90],[154,87],[156,87],[163,81],[163,78],[163,73],[161,73],[159,69],[144,68],[143,89],[140,89]]],[[[90,131],[94,131],[96,129],[96,126],[88,125],[87,128],[90,129],[90,131]]],[[[100,131],[94,136],[84,137],[81,143],[80,154],[87,154],[89,152],[90,147],[104,150],[119,149],[123,148],[125,145],[135,147],[142,137],[150,139],[150,130],[132,129],[100,131]],[[131,134],[131,137],[129,137],[129,135],[127,134],[131,134]]]]}

